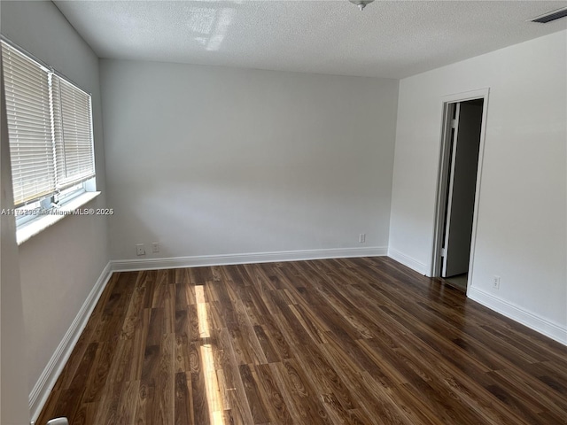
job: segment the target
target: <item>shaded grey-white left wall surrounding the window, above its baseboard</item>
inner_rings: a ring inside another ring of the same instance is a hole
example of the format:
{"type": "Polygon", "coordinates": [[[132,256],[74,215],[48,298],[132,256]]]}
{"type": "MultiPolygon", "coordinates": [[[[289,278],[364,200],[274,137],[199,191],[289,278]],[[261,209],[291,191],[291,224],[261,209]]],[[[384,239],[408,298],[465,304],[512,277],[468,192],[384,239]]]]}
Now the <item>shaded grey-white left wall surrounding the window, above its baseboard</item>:
{"type": "MultiPolygon", "coordinates": [[[[51,2],[2,2],[2,34],[92,93],[97,187],[105,206],[98,58],[51,2]]],[[[19,246],[29,389],[37,383],[109,259],[107,223],[69,216],[19,246]]]]}

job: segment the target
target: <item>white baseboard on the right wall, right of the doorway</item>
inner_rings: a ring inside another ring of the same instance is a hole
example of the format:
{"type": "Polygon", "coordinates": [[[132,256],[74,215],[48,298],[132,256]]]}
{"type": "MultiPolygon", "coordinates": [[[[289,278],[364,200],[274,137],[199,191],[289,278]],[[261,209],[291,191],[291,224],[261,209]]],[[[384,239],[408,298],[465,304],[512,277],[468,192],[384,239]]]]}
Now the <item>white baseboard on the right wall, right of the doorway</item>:
{"type": "Polygon", "coordinates": [[[474,286],[469,287],[467,290],[467,297],[490,308],[496,313],[501,313],[513,321],[522,323],[528,328],[540,332],[540,334],[549,336],[551,339],[555,339],[555,341],[567,345],[567,326],[565,325],[548,321],[538,314],[528,312],[518,305],[504,301],[501,298],[496,298],[488,292],[479,290],[474,286]]]}

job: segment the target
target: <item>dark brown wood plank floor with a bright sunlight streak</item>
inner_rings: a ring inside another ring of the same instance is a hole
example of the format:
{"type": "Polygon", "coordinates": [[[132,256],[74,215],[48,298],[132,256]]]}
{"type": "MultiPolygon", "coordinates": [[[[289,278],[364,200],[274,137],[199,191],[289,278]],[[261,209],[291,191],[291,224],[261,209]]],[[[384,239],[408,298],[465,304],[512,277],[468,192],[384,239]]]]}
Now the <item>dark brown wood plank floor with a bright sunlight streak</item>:
{"type": "Polygon", "coordinates": [[[567,348],[392,259],[113,274],[39,425],[567,423],[567,348]]]}

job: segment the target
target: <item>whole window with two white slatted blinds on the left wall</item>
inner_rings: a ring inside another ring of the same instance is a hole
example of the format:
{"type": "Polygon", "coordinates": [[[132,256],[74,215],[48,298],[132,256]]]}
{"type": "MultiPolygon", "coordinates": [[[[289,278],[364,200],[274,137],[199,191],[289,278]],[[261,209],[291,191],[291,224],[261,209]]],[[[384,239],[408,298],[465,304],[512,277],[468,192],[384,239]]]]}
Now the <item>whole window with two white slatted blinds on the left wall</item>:
{"type": "Polygon", "coordinates": [[[2,58],[14,206],[58,208],[94,183],[90,95],[4,40],[2,58]]]}

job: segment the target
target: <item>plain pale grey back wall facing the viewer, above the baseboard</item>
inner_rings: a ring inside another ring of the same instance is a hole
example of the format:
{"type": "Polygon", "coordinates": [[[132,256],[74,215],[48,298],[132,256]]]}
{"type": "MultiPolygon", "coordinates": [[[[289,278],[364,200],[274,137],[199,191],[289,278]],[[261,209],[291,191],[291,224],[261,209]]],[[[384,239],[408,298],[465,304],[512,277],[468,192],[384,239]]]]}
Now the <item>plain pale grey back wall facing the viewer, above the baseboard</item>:
{"type": "Polygon", "coordinates": [[[385,253],[398,81],[101,60],[101,85],[113,259],[385,253]]]}

